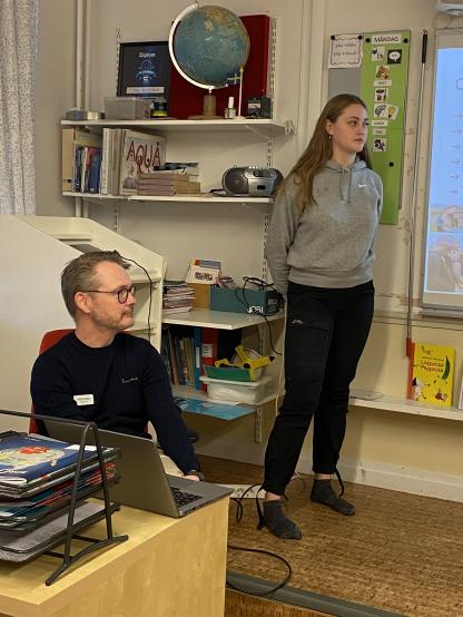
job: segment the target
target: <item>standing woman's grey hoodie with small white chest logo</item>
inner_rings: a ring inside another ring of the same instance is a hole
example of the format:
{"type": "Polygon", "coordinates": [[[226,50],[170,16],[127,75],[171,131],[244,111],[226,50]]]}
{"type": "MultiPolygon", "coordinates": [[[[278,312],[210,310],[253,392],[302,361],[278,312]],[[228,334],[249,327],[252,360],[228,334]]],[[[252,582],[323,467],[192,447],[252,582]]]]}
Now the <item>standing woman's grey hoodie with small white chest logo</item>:
{"type": "Polygon", "coordinates": [[[373,242],[383,205],[380,176],[364,160],[328,160],[314,178],[314,202],[301,214],[294,176],[277,197],[265,256],[276,288],[288,280],[315,287],[354,287],[373,278],[373,242]]]}

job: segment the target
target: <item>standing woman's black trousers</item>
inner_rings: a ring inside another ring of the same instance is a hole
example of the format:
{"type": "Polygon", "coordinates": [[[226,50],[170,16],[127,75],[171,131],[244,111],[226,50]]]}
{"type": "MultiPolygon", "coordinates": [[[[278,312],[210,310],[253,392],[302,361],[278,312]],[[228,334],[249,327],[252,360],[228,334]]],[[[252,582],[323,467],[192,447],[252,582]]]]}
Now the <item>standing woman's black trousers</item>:
{"type": "Polygon", "coordinates": [[[289,282],[286,394],[265,453],[264,489],[283,494],[314,417],[313,470],[334,473],[349,394],[373,320],[373,282],[322,288],[289,282]]]}

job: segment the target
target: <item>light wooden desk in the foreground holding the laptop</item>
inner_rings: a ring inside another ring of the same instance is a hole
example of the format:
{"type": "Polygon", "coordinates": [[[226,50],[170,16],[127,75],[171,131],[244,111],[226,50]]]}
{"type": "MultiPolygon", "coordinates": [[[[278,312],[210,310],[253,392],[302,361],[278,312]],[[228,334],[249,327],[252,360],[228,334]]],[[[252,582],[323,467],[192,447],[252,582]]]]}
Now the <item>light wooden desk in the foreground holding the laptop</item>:
{"type": "MultiPolygon", "coordinates": [[[[0,561],[0,615],[224,615],[228,498],[181,519],[122,507],[112,522],[115,535],[128,533],[129,539],[78,561],[50,587],[45,579],[58,566],[56,558],[41,556],[23,565],[0,561]]],[[[102,538],[105,523],[82,533],[102,538]]]]}

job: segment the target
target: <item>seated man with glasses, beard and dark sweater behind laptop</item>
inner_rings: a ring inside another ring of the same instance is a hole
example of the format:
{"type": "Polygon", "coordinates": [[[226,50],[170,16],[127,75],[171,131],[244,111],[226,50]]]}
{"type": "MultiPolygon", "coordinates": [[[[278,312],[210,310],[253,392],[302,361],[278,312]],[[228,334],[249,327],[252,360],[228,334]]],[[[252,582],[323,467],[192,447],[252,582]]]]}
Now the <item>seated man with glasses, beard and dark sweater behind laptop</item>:
{"type": "Polygon", "coordinates": [[[175,404],[162,359],[124,333],[134,324],[135,288],[117,251],[86,253],[62,271],[61,292],[76,330],[36,360],[36,413],[92,421],[100,429],[147,437],[150,421],[164,452],[186,478],[199,463],[175,404]]]}

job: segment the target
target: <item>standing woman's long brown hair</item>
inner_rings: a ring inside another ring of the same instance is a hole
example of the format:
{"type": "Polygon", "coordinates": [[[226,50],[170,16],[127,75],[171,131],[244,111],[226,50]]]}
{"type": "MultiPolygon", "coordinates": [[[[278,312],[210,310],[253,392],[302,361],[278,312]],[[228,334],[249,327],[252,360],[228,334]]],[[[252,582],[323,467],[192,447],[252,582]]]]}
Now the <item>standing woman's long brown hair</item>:
{"type": "MultiPolygon", "coordinates": [[[[278,186],[277,193],[285,190],[288,180],[293,178],[294,183],[298,186],[297,208],[301,213],[304,212],[307,205],[314,202],[314,178],[333,156],[333,143],[326,131],[326,121],[329,120],[334,124],[349,105],[362,105],[366,110],[364,101],[355,95],[337,95],[328,100],[319,115],[307,148],[285,180],[278,186]]],[[[366,163],[367,167],[372,167],[366,144],[357,156],[366,163]]]]}

